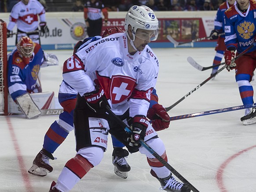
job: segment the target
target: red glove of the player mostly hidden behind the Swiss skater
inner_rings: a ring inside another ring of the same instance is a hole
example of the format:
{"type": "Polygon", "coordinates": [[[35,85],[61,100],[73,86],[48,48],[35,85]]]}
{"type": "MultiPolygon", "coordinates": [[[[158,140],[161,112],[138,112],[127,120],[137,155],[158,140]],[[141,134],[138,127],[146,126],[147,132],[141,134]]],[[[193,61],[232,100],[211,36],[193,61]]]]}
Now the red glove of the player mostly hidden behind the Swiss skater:
{"type": "Polygon", "coordinates": [[[169,127],[170,116],[166,112],[166,109],[158,103],[153,105],[147,112],[147,118],[153,120],[152,127],[154,130],[164,130],[169,127]]]}

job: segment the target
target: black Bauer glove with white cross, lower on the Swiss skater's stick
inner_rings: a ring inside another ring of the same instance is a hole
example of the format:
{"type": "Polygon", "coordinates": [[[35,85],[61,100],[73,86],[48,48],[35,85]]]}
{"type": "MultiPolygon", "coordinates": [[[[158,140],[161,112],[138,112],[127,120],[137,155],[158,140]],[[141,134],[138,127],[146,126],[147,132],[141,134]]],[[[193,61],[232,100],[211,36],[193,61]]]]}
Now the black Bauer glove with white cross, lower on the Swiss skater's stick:
{"type": "Polygon", "coordinates": [[[130,138],[127,139],[127,141],[130,146],[138,146],[140,145],[139,140],[144,140],[145,138],[146,128],[148,127],[149,122],[145,116],[136,115],[130,120],[128,120],[128,123],[132,124],[130,126],[132,130],[132,135],[130,138]]]}

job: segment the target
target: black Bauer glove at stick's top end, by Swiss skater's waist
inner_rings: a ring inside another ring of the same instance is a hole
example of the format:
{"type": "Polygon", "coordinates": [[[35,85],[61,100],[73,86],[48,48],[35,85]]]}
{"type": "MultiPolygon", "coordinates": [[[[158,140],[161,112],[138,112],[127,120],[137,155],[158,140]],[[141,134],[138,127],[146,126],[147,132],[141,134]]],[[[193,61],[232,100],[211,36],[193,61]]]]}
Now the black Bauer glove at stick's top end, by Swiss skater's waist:
{"type": "Polygon", "coordinates": [[[95,113],[106,113],[106,106],[109,105],[102,87],[95,85],[96,90],[85,93],[84,98],[88,107],[95,113]]]}

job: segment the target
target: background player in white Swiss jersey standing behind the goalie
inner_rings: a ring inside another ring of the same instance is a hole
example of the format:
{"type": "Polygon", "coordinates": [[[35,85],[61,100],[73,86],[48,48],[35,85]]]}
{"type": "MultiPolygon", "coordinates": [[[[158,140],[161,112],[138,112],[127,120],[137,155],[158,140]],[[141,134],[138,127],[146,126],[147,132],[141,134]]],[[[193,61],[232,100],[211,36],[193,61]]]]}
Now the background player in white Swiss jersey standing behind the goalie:
{"type": "Polygon", "coordinates": [[[29,36],[34,43],[40,44],[40,34],[49,33],[45,21],[45,10],[38,0],[21,0],[12,7],[9,17],[10,22],[7,25],[7,38],[12,36],[12,29],[17,24],[17,34],[15,44],[22,36],[29,36]],[[38,16],[40,22],[38,22],[38,16]]]}

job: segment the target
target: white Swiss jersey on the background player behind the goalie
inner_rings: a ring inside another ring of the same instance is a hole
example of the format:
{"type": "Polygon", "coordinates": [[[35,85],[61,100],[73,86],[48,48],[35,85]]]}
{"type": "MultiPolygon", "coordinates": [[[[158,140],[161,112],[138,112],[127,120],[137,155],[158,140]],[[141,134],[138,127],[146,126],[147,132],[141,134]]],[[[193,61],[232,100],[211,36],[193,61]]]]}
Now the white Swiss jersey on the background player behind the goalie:
{"type": "Polygon", "coordinates": [[[11,31],[17,23],[17,28],[23,32],[34,31],[38,27],[37,15],[40,22],[45,22],[45,10],[38,0],[29,0],[27,5],[20,1],[11,10],[7,29],[11,31]]]}

